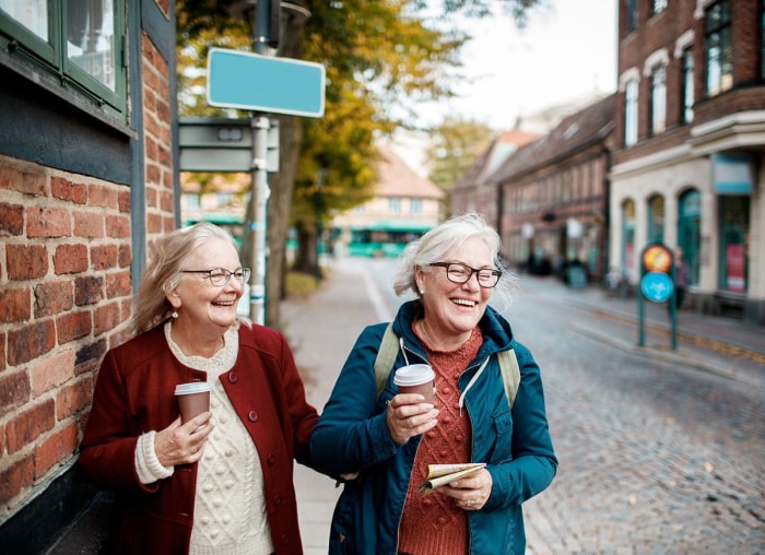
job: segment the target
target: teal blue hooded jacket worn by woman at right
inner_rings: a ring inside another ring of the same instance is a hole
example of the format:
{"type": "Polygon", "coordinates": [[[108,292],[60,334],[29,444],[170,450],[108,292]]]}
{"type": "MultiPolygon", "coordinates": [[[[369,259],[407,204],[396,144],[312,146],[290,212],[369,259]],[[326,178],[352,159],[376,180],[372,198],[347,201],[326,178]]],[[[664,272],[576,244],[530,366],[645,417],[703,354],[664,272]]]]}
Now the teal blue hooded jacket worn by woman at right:
{"type": "MultiPolygon", "coordinates": [[[[403,340],[410,363],[426,362],[411,322],[419,302],[401,306],[393,331],[403,340]]],[[[463,370],[463,392],[486,357],[489,365],[464,395],[472,425],[472,461],[485,462],[492,494],[479,511],[469,511],[470,553],[522,554],[526,548],[521,504],[550,485],[557,469],[544,408],[540,369],[527,347],[513,339],[510,326],[489,307],[479,326],[484,342],[463,370]],[[514,349],[520,387],[510,411],[497,357],[514,349]]],[[[344,484],[332,517],[330,554],[396,555],[398,529],[414,454],[421,436],[398,445],[386,423],[386,403],[397,394],[393,371],[376,399],[374,362],[387,324],[367,327],[356,340],[311,435],[311,454],[319,472],[338,476],[358,473],[344,484]]],[[[395,368],[405,364],[400,351],[395,368]]]]}

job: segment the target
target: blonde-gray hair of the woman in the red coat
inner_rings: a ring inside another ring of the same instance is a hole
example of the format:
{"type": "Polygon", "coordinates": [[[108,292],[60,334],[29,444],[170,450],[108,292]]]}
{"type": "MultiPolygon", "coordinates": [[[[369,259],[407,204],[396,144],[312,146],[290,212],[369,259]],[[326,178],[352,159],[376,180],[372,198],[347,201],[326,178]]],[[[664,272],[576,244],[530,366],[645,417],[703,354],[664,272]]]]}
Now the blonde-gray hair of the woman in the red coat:
{"type": "Polygon", "coordinates": [[[180,227],[154,241],[153,257],[143,271],[134,298],[133,330],[142,333],[164,322],[173,314],[165,293],[180,282],[180,270],[188,257],[211,239],[223,239],[236,247],[232,235],[208,222],[180,227]]]}

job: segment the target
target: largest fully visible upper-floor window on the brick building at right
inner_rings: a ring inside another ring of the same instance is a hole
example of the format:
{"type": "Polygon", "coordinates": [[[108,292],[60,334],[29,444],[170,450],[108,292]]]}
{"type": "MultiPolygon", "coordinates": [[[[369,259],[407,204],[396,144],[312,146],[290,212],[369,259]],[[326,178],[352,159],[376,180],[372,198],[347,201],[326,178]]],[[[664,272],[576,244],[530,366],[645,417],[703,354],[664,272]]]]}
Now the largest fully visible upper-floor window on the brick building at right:
{"type": "Polygon", "coordinates": [[[707,94],[718,95],[733,86],[733,48],[730,0],[722,0],[706,11],[707,94]]]}

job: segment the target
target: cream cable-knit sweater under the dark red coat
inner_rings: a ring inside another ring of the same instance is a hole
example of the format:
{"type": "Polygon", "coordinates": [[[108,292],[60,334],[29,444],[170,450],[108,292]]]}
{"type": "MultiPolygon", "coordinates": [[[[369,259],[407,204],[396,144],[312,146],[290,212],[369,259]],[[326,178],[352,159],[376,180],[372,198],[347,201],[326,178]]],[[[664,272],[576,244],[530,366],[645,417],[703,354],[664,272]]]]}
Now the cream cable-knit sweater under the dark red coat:
{"type": "MultiPolygon", "coordinates": [[[[217,377],[236,363],[239,335],[232,327],[224,335],[225,346],[211,358],[186,356],[170,338],[170,322],[165,338],[173,354],[190,368],[208,373],[210,411],[215,426],[204,446],[197,474],[197,499],[192,555],[266,555],[273,553],[263,498],[263,475],[260,459],[244,424],[234,412],[217,377]]],[[[139,438],[136,469],[144,484],[173,474],[154,452],[155,432],[139,438]]]]}

